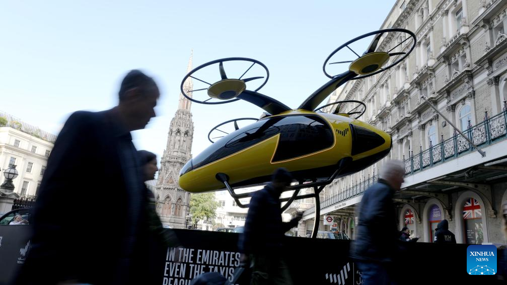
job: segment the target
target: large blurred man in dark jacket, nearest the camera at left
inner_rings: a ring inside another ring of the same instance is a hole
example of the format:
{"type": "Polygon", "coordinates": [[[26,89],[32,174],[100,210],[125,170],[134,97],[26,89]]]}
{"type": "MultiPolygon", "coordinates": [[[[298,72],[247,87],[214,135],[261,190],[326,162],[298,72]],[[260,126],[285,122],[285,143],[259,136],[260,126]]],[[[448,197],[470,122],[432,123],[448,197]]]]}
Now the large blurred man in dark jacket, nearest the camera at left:
{"type": "Polygon", "coordinates": [[[118,106],[70,115],[48,159],[17,284],[142,283],[147,196],[130,131],[155,117],[159,96],[151,77],[132,70],[118,106]]]}

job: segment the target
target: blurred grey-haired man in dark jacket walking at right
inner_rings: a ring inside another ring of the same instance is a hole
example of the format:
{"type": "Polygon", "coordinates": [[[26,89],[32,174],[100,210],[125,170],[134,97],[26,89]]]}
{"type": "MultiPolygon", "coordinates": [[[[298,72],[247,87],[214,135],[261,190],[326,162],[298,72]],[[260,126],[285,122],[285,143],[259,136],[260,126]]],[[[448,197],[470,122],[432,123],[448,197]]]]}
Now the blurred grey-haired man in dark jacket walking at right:
{"type": "Polygon", "coordinates": [[[351,244],[350,256],[362,272],[365,285],[392,282],[392,256],[399,239],[392,198],[402,186],[404,172],[401,161],[387,161],[379,181],[365,191],[359,205],[357,238],[351,244]]]}

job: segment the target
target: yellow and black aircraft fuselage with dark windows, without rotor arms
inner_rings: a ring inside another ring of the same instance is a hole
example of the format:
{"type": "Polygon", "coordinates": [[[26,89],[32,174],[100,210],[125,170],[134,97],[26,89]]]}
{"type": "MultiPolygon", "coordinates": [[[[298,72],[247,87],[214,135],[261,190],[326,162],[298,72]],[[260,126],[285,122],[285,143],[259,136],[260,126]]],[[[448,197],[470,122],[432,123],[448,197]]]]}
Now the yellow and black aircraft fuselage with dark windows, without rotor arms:
{"type": "Polygon", "coordinates": [[[291,171],[296,181],[321,180],[330,177],[343,158],[350,157],[351,163],[337,177],[389,153],[392,142],[386,132],[344,115],[296,110],[263,118],[187,162],[179,186],[189,192],[223,189],[217,173],[227,174],[232,187],[258,185],[269,182],[278,167],[291,171]]]}

